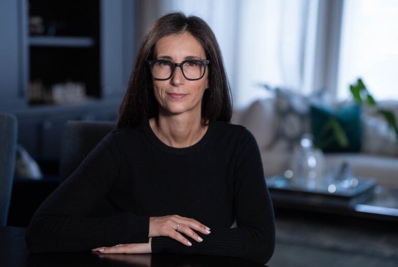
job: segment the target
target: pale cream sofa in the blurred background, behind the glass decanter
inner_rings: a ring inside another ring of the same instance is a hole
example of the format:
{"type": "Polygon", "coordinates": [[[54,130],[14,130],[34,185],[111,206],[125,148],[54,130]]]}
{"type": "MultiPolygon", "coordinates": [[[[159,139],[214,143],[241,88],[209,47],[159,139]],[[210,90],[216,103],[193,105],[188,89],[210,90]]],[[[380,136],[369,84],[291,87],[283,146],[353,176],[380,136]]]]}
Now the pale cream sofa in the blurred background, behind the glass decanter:
{"type": "MultiPolygon", "coordinates": [[[[398,118],[398,101],[379,103],[393,111],[398,118]]],[[[328,168],[339,168],[348,163],[356,177],[371,177],[376,183],[398,189],[398,141],[391,136],[388,126],[374,116],[372,109],[362,109],[362,147],[355,153],[325,153],[328,168]]],[[[232,123],[240,124],[255,136],[260,148],[264,176],[282,174],[289,169],[292,149],[278,144],[278,127],[281,124],[276,112],[276,97],[256,100],[246,109],[234,110],[232,123]]]]}

